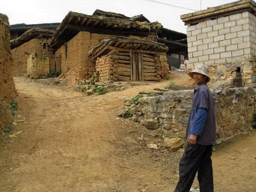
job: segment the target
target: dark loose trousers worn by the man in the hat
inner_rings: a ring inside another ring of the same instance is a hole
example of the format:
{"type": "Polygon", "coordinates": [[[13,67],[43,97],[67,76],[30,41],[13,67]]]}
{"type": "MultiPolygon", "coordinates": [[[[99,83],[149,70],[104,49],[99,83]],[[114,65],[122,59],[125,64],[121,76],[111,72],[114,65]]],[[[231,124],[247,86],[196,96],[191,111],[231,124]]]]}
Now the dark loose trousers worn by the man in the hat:
{"type": "Polygon", "coordinates": [[[212,145],[187,143],[180,160],[180,180],[174,192],[189,192],[197,171],[200,192],[213,192],[212,145]]]}

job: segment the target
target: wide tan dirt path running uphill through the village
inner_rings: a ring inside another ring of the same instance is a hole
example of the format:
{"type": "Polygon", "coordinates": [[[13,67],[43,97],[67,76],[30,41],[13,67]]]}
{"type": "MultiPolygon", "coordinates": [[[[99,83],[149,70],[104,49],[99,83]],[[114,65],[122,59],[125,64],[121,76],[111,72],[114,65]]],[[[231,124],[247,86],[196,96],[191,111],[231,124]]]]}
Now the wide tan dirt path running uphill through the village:
{"type": "MultiPolygon", "coordinates": [[[[16,78],[17,115],[25,122],[0,147],[0,191],[172,192],[182,153],[145,148],[162,139],[139,139],[149,130],[116,116],[124,98],[167,83],[84,96],[16,78]]],[[[250,134],[214,154],[216,192],[256,191],[256,132],[250,134]]]]}

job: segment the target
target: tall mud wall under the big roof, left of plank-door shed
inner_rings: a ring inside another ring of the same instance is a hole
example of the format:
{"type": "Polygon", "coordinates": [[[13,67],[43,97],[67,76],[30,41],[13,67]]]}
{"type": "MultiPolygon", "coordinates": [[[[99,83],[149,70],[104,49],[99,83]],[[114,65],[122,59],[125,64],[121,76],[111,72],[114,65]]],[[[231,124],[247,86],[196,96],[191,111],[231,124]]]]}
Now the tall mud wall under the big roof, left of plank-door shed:
{"type": "MultiPolygon", "coordinates": [[[[111,37],[109,34],[97,34],[90,32],[79,32],[75,37],[62,45],[56,52],[55,56],[61,57],[62,75],[70,78],[70,81],[75,82],[75,79],[89,79],[96,72],[95,63],[92,62],[88,53],[100,43],[100,39],[111,37]]],[[[136,37],[152,39],[150,37],[136,37]]]]}

